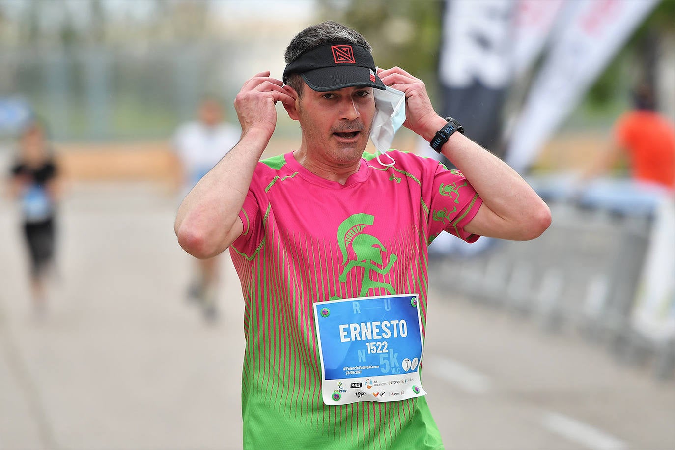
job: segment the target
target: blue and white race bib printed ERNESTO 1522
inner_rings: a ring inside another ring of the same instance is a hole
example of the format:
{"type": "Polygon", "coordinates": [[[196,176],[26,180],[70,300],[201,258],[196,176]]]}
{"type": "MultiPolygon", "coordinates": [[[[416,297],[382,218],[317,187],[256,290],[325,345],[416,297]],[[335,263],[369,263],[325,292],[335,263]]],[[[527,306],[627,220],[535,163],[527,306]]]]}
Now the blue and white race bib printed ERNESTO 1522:
{"type": "Polygon", "coordinates": [[[420,382],[418,294],[314,304],[326,405],[399,401],[427,392],[420,382]]]}

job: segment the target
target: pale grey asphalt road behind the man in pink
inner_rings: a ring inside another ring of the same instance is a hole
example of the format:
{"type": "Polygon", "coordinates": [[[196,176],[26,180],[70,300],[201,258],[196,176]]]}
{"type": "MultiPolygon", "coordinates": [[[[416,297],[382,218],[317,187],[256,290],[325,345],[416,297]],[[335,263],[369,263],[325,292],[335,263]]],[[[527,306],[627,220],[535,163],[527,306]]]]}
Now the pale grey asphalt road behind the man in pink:
{"type": "MultiPolygon", "coordinates": [[[[16,205],[0,200],[0,448],[239,448],[242,296],[223,258],[221,320],[184,292],[175,199],[73,186],[48,314],[29,302],[16,205]]],[[[423,383],[448,448],[675,448],[675,383],[574,334],[441,291],[423,383]]]]}

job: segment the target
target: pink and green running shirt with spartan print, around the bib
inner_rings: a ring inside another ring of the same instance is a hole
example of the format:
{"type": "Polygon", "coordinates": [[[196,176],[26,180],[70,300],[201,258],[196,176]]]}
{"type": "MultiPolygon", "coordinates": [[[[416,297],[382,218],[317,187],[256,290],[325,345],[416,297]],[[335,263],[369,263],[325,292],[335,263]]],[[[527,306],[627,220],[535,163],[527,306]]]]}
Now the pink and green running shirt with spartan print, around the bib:
{"type": "Polygon", "coordinates": [[[464,225],[481,198],[460,172],[389,154],[396,165],[365,154],[344,185],[292,153],[258,163],[239,215],[244,232],[230,246],[246,302],[244,447],[443,447],[425,397],[338,406],[321,399],[313,304],[419,293],[425,333],[428,244],[443,230],[479,237],[464,225]]]}

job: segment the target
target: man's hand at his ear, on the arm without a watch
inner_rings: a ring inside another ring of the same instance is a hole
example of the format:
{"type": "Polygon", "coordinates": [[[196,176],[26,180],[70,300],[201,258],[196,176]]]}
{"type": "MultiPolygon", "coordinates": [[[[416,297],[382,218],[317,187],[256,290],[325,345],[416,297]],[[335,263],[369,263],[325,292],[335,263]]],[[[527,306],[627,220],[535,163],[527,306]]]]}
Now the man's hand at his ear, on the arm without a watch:
{"type": "Polygon", "coordinates": [[[281,80],[271,78],[269,70],[249,78],[234,100],[242,136],[250,130],[260,130],[272,136],[277,124],[277,101],[292,105],[295,102],[294,91],[281,80]]]}

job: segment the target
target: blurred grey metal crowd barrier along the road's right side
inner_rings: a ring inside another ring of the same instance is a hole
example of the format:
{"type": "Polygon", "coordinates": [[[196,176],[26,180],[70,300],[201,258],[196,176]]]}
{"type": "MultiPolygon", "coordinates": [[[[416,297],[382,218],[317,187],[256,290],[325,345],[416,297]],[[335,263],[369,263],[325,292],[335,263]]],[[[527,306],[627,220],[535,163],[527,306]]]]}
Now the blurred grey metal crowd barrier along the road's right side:
{"type": "MultiPolygon", "coordinates": [[[[434,277],[546,332],[580,333],[626,364],[653,365],[675,376],[675,342],[647,339],[632,326],[651,217],[549,202],[553,223],[537,240],[493,240],[474,255],[446,254],[434,277]]],[[[481,239],[485,239],[484,237],[481,239]]]]}

